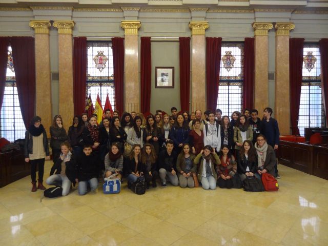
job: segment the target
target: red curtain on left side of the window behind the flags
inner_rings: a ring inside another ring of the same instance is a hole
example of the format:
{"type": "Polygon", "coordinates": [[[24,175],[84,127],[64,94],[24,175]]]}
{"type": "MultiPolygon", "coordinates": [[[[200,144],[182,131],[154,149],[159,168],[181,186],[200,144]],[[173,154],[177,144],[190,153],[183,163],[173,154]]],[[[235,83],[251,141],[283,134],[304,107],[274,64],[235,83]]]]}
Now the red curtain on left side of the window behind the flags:
{"type": "Polygon", "coordinates": [[[73,99],[74,115],[86,111],[87,37],[74,37],[73,48],[73,99]]]}

